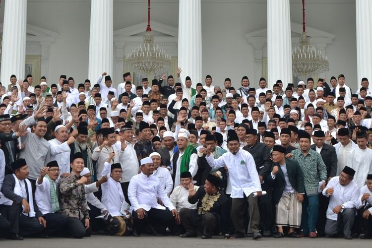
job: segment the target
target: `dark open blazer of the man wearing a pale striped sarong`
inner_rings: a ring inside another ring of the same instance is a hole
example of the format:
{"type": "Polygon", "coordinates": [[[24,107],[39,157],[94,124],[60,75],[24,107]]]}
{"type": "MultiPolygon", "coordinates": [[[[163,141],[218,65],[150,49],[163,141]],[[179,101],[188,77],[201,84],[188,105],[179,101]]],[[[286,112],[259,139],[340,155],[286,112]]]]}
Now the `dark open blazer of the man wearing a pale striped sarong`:
{"type": "MultiPolygon", "coordinates": [[[[272,185],[273,201],[275,203],[278,203],[280,198],[282,197],[284,188],[286,186],[286,180],[284,178],[284,173],[278,163],[273,163],[271,167],[271,171],[274,166],[278,166],[279,171],[276,173],[275,179],[272,179],[271,173],[270,173],[266,177],[266,182],[272,185]]],[[[286,158],[286,168],[287,168],[289,182],[291,183],[292,187],[298,193],[305,193],[304,174],[299,165],[299,162],[297,162],[297,160],[294,160],[294,159],[286,158]]]]}

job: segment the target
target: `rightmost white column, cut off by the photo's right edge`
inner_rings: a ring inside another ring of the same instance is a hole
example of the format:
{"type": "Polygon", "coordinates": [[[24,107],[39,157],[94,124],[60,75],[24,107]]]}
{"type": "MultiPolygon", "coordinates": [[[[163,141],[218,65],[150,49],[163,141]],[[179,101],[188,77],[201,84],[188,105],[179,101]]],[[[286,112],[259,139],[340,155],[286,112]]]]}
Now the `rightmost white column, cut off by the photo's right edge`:
{"type": "Polygon", "coordinates": [[[361,87],[361,80],[367,77],[372,82],[372,1],[355,1],[357,18],[357,69],[358,88],[361,87]]]}

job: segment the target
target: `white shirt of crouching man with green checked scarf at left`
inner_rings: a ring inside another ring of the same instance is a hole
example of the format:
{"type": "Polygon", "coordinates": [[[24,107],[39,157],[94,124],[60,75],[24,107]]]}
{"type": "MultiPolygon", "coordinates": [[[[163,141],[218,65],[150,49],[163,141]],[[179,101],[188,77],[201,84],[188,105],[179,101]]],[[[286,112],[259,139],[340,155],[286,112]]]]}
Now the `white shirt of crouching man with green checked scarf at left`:
{"type": "MultiPolygon", "coordinates": [[[[57,190],[56,182],[53,183],[54,188],[57,190]]],[[[45,177],[40,185],[36,181],[35,201],[42,214],[54,213],[51,200],[51,185],[45,177]]]]}

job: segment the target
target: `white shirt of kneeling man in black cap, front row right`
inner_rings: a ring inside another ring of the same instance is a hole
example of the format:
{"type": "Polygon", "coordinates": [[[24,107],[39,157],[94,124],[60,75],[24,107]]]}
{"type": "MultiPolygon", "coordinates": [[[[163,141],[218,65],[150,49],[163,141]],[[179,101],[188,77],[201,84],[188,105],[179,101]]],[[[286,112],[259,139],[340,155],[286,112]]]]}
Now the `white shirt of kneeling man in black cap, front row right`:
{"type": "Polygon", "coordinates": [[[358,200],[360,189],[357,184],[351,181],[348,185],[340,185],[340,177],[333,177],[325,186],[322,194],[331,198],[327,208],[327,219],[337,220],[337,214],[333,213],[333,208],[343,205],[345,208],[355,208],[355,202],[358,200]],[[333,194],[326,194],[328,188],[333,188],[333,194]]]}

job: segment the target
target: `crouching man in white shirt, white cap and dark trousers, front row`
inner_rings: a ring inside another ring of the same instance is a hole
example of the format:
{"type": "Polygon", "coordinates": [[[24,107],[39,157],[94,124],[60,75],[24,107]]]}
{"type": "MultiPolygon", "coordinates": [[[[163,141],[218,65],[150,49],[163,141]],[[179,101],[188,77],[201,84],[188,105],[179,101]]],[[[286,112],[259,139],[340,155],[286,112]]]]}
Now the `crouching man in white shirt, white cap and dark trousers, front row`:
{"type": "Polygon", "coordinates": [[[160,180],[152,175],[152,159],[141,159],[140,169],[141,173],[131,178],[128,187],[128,197],[133,208],[133,235],[139,236],[146,227],[152,227],[154,234],[164,235],[167,227],[171,230],[174,227],[178,212],[164,192],[160,180]],[[164,206],[158,203],[158,198],[164,206]]]}

